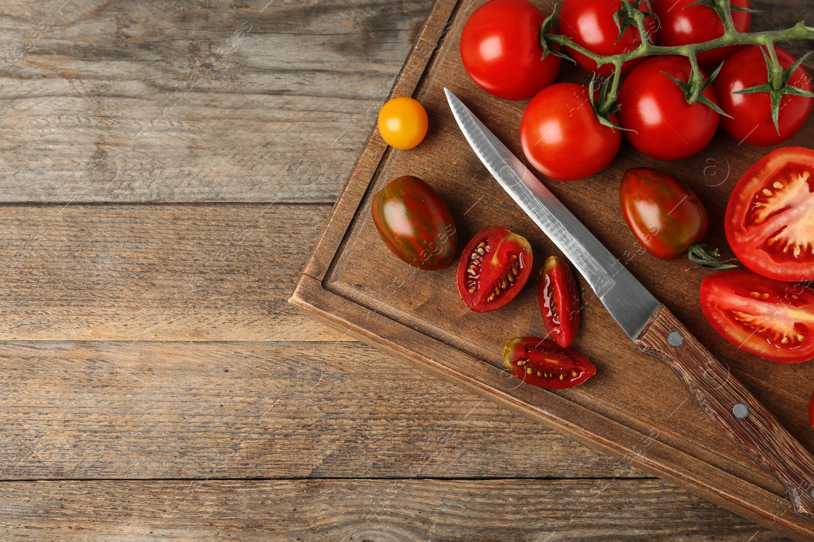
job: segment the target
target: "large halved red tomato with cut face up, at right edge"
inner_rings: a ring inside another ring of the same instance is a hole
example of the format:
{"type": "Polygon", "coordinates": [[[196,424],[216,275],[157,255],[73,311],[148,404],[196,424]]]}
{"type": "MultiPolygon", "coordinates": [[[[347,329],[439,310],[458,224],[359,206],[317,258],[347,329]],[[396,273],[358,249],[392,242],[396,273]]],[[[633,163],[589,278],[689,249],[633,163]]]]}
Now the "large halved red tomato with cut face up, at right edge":
{"type": "Polygon", "coordinates": [[[737,181],[724,226],[737,259],[776,280],[814,280],[814,150],[772,150],[737,181]]]}

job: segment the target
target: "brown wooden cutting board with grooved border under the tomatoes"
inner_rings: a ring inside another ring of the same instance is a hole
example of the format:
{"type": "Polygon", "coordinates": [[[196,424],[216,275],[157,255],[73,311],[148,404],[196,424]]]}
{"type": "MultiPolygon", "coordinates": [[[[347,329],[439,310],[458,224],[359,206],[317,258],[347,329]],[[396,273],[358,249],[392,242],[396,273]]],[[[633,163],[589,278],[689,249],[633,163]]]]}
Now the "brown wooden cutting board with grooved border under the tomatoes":
{"type": "MultiPolygon", "coordinates": [[[[718,431],[667,366],[632,345],[581,276],[584,308],[574,347],[594,362],[597,375],[577,388],[551,391],[523,384],[504,371],[506,340],[545,336],[533,277],[545,258],[562,254],[475,157],[444,98],[444,87],[449,87],[523,156],[518,132],[526,102],[493,98],[472,83],[462,67],[461,29],[481,3],[435,3],[392,91],[392,97],[412,96],[424,104],[430,118],[427,138],[414,149],[394,150],[377,130],[371,133],[291,303],[414,362],[416,371],[451,379],[766,527],[798,540],[814,540],[814,521],[794,514],[777,479],[718,431]],[[471,312],[458,297],[454,264],[444,271],[419,271],[388,251],[370,218],[370,200],[402,175],[421,177],[438,189],[453,213],[460,247],[494,224],[527,237],[534,253],[532,279],[514,301],[491,313],[471,312]]],[[[576,68],[562,65],[559,80],[586,80],[576,68]]],[[[812,121],[786,145],[814,147],[812,121]]],[[[720,132],[699,154],[660,162],[623,142],[610,167],[593,178],[570,183],[540,179],[728,364],[733,377],[803,445],[814,449],[814,431],[807,422],[814,362],[781,365],[729,345],[712,330],[699,305],[699,286],[711,271],[687,271],[686,260],[663,262],[646,254],[619,211],[619,181],[625,169],[658,167],[694,189],[710,219],[707,242],[728,252],[722,224],[729,193],[767,152],[737,145],[720,132]]],[[[375,375],[370,375],[370,385],[375,386],[375,375]]],[[[528,461],[535,460],[536,450],[528,450],[528,461]]]]}

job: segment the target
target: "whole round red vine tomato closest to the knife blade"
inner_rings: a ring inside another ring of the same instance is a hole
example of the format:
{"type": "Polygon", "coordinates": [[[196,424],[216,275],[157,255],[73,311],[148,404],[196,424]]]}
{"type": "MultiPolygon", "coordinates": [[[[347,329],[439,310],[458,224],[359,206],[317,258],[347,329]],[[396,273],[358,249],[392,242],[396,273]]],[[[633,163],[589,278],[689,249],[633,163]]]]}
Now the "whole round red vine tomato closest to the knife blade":
{"type": "MultiPolygon", "coordinates": [[[[588,87],[558,83],[528,102],[520,143],[528,161],[557,180],[577,180],[605,169],[619,151],[622,134],[599,124],[588,87]]],[[[616,115],[610,116],[616,124],[616,115]]]]}

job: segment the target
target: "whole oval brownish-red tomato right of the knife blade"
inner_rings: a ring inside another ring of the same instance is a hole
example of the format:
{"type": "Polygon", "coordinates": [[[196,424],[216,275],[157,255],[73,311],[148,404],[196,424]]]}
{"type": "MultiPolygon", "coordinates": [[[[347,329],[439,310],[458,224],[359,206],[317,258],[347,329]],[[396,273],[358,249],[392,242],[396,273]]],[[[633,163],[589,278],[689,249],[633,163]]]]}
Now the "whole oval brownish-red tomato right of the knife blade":
{"type": "Polygon", "coordinates": [[[656,258],[681,258],[707,234],[707,211],[701,201],[664,171],[651,167],[625,171],[619,203],[633,235],[656,258]]]}

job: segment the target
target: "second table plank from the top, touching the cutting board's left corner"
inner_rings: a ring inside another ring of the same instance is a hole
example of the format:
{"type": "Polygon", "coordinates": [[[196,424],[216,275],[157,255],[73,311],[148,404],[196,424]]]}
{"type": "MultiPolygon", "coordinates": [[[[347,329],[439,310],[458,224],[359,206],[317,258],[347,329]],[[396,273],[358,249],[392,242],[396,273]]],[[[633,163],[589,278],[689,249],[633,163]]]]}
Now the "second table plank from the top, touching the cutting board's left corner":
{"type": "Polygon", "coordinates": [[[0,340],[339,340],[289,306],[329,207],[0,207],[0,340]]]}

